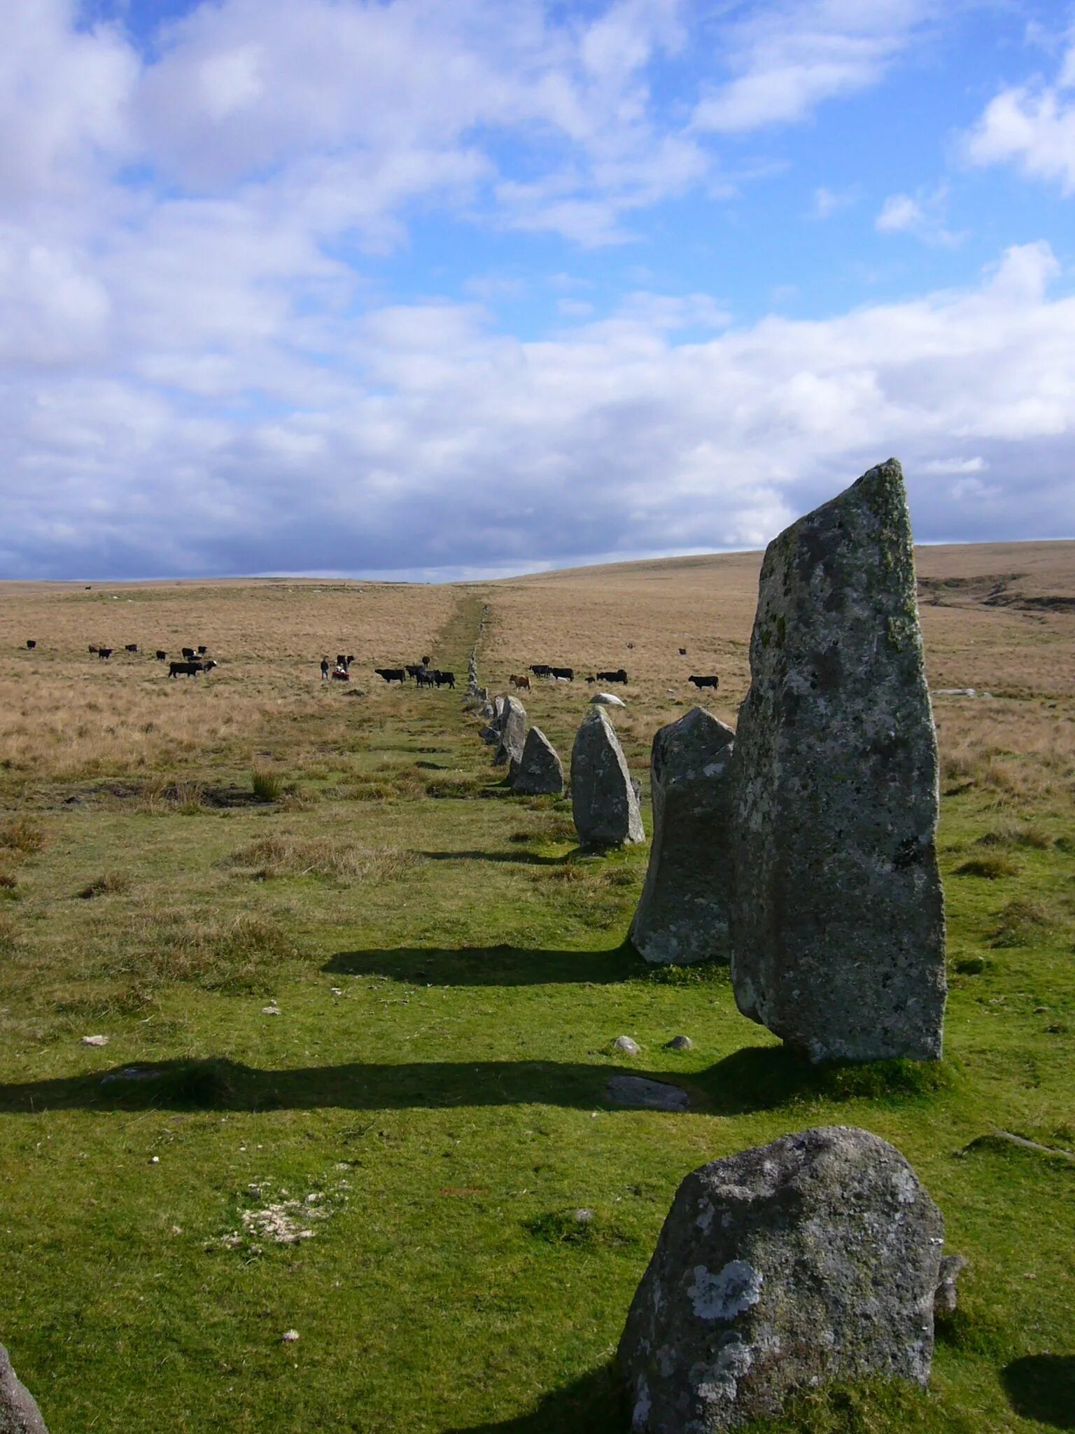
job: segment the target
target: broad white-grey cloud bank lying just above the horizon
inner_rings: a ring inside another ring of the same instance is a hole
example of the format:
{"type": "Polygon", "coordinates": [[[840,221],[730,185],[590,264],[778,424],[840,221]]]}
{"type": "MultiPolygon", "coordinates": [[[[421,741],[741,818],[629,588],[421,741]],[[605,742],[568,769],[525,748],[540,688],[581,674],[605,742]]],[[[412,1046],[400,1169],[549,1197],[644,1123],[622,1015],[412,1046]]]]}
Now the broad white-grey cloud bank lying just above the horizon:
{"type": "Polygon", "coordinates": [[[671,331],[718,320],[708,300],[638,295],[532,343],[479,304],[394,305],[344,327],[331,374],[281,326],[258,369],[275,356],[284,412],[42,370],[0,399],[0,559],[503,571],[752,546],[890,452],[922,538],[1071,533],[1075,298],[1048,295],[1055,271],[1028,245],[969,290],[691,343],[671,331]]]}

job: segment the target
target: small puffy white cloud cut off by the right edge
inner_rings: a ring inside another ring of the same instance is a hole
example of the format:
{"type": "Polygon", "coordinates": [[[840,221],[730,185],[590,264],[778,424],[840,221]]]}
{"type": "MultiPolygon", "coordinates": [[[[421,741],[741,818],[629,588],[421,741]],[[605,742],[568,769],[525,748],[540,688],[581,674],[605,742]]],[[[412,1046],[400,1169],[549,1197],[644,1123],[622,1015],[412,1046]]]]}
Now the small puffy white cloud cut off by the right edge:
{"type": "Polygon", "coordinates": [[[1075,194],[1075,44],[1052,85],[1002,89],[965,138],[975,165],[1013,165],[1033,179],[1075,194]]]}

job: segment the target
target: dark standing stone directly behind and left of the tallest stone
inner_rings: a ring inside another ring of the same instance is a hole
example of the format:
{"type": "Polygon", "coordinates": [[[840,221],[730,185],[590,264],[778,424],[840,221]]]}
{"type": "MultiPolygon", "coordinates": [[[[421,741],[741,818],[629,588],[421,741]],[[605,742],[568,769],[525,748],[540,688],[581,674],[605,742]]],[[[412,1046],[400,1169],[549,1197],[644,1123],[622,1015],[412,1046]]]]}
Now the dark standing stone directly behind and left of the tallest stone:
{"type": "Polygon", "coordinates": [[[654,737],[654,845],[631,926],[646,961],[728,961],[735,733],[704,707],[654,737]]]}

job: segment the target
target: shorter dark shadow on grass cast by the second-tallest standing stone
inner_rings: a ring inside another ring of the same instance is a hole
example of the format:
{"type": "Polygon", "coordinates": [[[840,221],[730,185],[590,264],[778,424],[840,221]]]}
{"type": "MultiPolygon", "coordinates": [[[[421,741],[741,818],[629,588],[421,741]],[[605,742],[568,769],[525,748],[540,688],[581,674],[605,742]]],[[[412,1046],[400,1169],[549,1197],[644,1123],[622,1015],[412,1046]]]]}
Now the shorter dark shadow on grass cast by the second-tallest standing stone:
{"type": "Polygon", "coordinates": [[[396,946],[338,951],[321,967],[337,977],[390,977],[411,985],[611,985],[638,979],[645,968],[624,944],[612,951],[527,951],[523,946],[396,946]]]}

